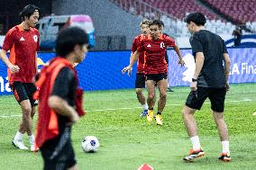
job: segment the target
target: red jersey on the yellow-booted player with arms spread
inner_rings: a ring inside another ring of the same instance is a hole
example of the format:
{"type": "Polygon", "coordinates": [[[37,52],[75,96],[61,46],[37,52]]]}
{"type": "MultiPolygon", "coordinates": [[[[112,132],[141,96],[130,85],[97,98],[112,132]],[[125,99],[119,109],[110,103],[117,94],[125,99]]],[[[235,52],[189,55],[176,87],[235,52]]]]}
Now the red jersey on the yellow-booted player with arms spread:
{"type": "Polygon", "coordinates": [[[175,40],[169,36],[160,34],[158,40],[152,40],[151,35],[148,35],[138,46],[138,51],[145,51],[144,72],[148,74],[167,73],[168,66],[165,59],[167,47],[174,47],[175,40]]]}

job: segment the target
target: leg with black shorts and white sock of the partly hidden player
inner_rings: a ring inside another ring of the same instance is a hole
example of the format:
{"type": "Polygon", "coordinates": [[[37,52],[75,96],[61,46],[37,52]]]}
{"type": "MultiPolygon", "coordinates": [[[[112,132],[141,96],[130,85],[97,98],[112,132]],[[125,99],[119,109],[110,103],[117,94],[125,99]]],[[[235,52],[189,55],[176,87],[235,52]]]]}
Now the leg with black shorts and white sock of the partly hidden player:
{"type": "Polygon", "coordinates": [[[142,113],[141,116],[146,116],[148,113],[148,103],[146,103],[145,96],[143,94],[143,88],[145,87],[145,76],[144,74],[137,74],[136,75],[136,80],[135,80],[135,88],[136,88],[136,94],[137,94],[137,99],[139,103],[142,104],[142,113]]]}

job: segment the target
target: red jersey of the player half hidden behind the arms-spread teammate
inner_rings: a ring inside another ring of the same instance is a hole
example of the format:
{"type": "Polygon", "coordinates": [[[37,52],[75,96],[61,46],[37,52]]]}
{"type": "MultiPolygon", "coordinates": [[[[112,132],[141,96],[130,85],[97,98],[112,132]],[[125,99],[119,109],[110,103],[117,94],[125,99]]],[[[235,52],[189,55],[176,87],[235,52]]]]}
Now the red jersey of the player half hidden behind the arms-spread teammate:
{"type": "MultiPolygon", "coordinates": [[[[138,45],[141,40],[144,39],[145,35],[141,34],[134,38],[132,51],[133,53],[138,49],[138,45]]],[[[137,73],[144,73],[144,61],[145,61],[145,52],[142,52],[137,61],[137,73]]]]}

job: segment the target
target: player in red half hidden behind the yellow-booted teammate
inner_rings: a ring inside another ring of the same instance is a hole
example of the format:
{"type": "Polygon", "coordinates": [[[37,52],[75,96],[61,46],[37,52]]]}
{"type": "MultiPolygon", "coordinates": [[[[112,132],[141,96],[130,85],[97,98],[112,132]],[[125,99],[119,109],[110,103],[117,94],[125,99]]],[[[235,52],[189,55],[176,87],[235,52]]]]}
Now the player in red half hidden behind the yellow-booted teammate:
{"type": "MultiPolygon", "coordinates": [[[[141,22],[140,26],[141,26],[142,34],[136,36],[133,40],[131,58],[133,57],[134,52],[137,50],[141,40],[144,39],[144,36],[150,33],[149,23],[150,21],[141,22]]],[[[144,75],[144,58],[145,58],[145,52],[142,52],[137,61],[137,74],[136,74],[136,80],[135,80],[137,98],[138,98],[138,101],[142,104],[142,108],[143,108],[141,116],[146,116],[148,114],[148,109],[149,109],[145,96],[142,93],[143,88],[145,88],[145,82],[146,82],[145,75],[144,75]]],[[[132,69],[128,71],[128,76],[130,76],[131,71],[132,69]]]]}

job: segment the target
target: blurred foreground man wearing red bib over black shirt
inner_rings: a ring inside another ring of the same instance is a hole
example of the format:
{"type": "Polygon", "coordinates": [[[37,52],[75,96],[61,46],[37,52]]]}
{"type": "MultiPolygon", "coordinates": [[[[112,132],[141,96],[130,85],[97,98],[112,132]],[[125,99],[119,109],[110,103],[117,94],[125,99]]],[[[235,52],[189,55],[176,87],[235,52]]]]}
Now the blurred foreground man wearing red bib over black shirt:
{"type": "Polygon", "coordinates": [[[58,57],[51,59],[37,77],[36,85],[40,90],[37,92],[39,119],[35,141],[41,150],[44,170],[77,169],[70,132],[78,115],[84,112],[79,107],[82,90],[78,88],[74,66],[85,58],[87,43],[87,33],[78,27],[60,31],[56,43],[58,57]]]}

